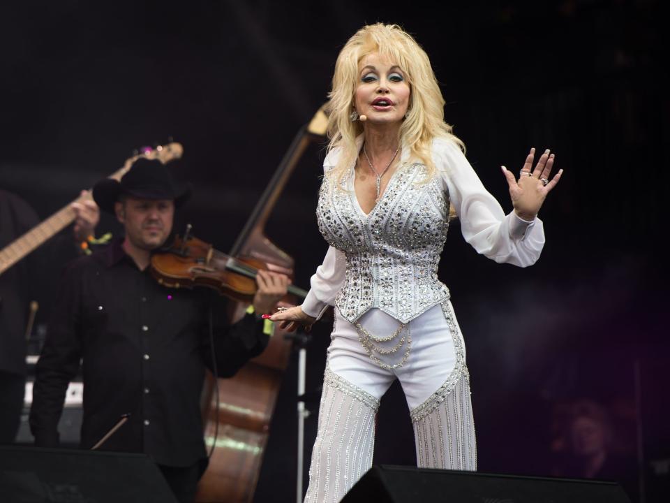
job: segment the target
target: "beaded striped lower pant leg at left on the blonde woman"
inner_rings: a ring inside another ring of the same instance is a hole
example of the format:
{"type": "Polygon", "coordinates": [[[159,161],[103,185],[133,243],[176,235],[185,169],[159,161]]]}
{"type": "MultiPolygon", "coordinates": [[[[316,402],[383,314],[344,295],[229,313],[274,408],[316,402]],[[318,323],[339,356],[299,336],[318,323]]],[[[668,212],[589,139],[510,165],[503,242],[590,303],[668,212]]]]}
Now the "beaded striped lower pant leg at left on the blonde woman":
{"type": "Polygon", "coordinates": [[[305,503],[337,503],[372,466],[379,400],[326,368],[305,503]]]}

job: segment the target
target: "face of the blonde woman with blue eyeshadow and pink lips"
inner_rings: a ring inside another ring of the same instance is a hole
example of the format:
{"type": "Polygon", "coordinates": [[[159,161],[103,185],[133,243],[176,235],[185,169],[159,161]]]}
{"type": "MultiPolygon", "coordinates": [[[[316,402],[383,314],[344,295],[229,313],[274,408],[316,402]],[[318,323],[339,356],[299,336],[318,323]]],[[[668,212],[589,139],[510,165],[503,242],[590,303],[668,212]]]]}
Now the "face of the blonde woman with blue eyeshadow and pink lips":
{"type": "Polygon", "coordinates": [[[411,91],[398,65],[373,52],[361,60],[358,78],[354,105],[359,115],[366,115],[372,124],[403,120],[411,91]]]}

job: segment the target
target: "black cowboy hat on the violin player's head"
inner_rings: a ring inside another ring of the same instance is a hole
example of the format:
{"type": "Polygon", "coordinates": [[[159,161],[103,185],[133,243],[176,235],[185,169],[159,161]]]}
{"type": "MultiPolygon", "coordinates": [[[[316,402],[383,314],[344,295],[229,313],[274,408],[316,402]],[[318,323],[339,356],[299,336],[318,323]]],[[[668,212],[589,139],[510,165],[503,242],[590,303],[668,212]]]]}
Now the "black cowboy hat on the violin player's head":
{"type": "Polygon", "coordinates": [[[105,178],[96,183],[93,198],[101,210],[113,214],[114,203],[122,195],[140,199],[173,199],[174,207],[179,207],[188,201],[192,190],[190,184],[176,184],[168,166],[158,159],[140,157],[121,177],[121,182],[105,178]]]}

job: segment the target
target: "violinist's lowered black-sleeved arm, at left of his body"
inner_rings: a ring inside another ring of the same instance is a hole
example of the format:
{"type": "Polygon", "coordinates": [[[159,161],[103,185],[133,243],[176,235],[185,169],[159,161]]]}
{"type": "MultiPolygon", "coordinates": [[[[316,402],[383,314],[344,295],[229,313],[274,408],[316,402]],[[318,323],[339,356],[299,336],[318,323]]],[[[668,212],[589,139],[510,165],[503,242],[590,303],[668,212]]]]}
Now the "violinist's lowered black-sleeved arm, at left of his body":
{"type": "Polygon", "coordinates": [[[35,369],[30,430],[35,444],[59,444],[58,423],[68,384],[77,375],[81,356],[80,271],[66,268],[47,330],[47,338],[35,369]]]}

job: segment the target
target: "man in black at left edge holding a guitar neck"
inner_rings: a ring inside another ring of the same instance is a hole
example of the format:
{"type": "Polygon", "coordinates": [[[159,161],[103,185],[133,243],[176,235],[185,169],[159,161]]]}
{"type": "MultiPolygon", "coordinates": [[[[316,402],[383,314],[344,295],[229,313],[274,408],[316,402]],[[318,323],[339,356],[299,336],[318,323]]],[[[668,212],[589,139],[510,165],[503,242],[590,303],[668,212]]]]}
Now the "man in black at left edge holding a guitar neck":
{"type": "MultiPolygon", "coordinates": [[[[33,285],[62,266],[54,263],[53,256],[74,258],[98,224],[100,212],[93,201],[73,203],[73,209],[77,214],[72,233],[75,245],[69,236],[59,235],[0,274],[0,444],[13,443],[19,430],[26,383],[28,306],[37,293],[33,285]]],[[[0,190],[0,249],[38,224],[28,203],[0,190]]]]}

